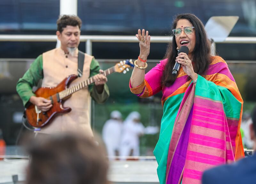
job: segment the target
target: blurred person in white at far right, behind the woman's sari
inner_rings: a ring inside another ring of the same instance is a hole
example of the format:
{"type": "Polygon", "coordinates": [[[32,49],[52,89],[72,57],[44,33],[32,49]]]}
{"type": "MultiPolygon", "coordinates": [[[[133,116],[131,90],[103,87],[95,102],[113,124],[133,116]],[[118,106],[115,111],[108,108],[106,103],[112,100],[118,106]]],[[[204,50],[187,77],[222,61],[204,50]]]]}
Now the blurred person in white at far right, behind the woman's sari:
{"type": "Polygon", "coordinates": [[[252,149],[253,141],[250,137],[250,125],[252,124],[252,118],[249,112],[244,112],[242,117],[241,129],[244,132],[244,136],[242,137],[243,145],[247,149],[252,149]]]}

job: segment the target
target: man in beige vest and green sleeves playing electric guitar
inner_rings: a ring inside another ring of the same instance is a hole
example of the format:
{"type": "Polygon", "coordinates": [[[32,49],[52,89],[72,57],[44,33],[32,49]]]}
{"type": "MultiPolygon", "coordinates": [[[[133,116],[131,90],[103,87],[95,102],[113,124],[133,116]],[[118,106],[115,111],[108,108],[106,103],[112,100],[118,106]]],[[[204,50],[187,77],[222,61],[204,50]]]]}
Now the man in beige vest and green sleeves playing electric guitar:
{"type": "MultiPolygon", "coordinates": [[[[51,99],[37,97],[32,91],[32,87],[36,86],[40,79],[42,86],[54,87],[67,76],[77,74],[81,24],[82,21],[77,16],[63,15],[57,20],[56,35],[61,42],[60,48],[38,56],[17,83],[16,90],[25,108],[32,103],[44,114],[52,108],[51,99]]],[[[93,56],[85,54],[83,75],[75,81],[78,83],[93,76],[94,83],[72,94],[71,98],[65,101],[65,106],[71,107],[72,110],[69,113],[58,114],[50,124],[42,127],[38,132],[83,131],[92,135],[89,97],[91,96],[98,103],[104,103],[109,97],[107,77],[101,73],[98,61],[93,56]]]]}

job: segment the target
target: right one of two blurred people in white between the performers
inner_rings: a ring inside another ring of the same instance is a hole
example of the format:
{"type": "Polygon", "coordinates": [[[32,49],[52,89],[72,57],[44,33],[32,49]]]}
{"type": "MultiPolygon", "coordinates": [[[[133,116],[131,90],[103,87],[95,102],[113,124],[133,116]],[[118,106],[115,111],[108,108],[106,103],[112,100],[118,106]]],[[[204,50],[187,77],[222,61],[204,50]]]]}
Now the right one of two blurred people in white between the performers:
{"type": "Polygon", "coordinates": [[[140,113],[131,112],[123,124],[120,156],[140,156],[140,136],[145,127],[140,122],[140,113]]]}

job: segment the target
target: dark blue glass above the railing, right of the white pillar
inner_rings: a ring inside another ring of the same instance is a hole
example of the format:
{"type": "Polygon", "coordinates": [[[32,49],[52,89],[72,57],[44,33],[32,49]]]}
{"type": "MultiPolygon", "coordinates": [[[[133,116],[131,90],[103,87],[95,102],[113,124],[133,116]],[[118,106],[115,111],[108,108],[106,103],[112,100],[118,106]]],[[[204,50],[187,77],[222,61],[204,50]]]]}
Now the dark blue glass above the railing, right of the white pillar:
{"type": "Polygon", "coordinates": [[[256,36],[255,7],[252,0],[78,0],[77,12],[83,34],[135,35],[138,28],[145,28],[151,35],[165,36],[175,15],[191,12],[204,25],[212,16],[239,16],[230,36],[256,36]]]}

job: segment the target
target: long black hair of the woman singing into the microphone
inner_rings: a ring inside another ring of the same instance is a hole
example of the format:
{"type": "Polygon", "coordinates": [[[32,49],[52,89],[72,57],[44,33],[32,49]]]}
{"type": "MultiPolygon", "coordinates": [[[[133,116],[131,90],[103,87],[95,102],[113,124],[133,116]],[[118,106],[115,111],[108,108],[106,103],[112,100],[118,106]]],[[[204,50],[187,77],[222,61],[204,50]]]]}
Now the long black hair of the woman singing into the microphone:
{"type": "MultiPolygon", "coordinates": [[[[199,75],[204,75],[210,64],[210,53],[211,53],[211,43],[207,38],[204,25],[195,15],[193,14],[180,14],[177,15],[172,24],[172,29],[175,29],[177,26],[177,22],[181,19],[187,19],[194,28],[196,33],[196,45],[194,51],[192,52],[193,68],[194,72],[199,75]]],[[[167,47],[167,51],[165,53],[165,58],[168,58],[168,62],[164,68],[163,76],[162,76],[162,85],[170,86],[174,83],[177,76],[172,75],[172,69],[175,65],[175,59],[177,57],[177,43],[175,40],[175,36],[172,37],[172,42],[169,43],[167,47]]],[[[188,80],[191,78],[188,77],[188,80]]]]}

